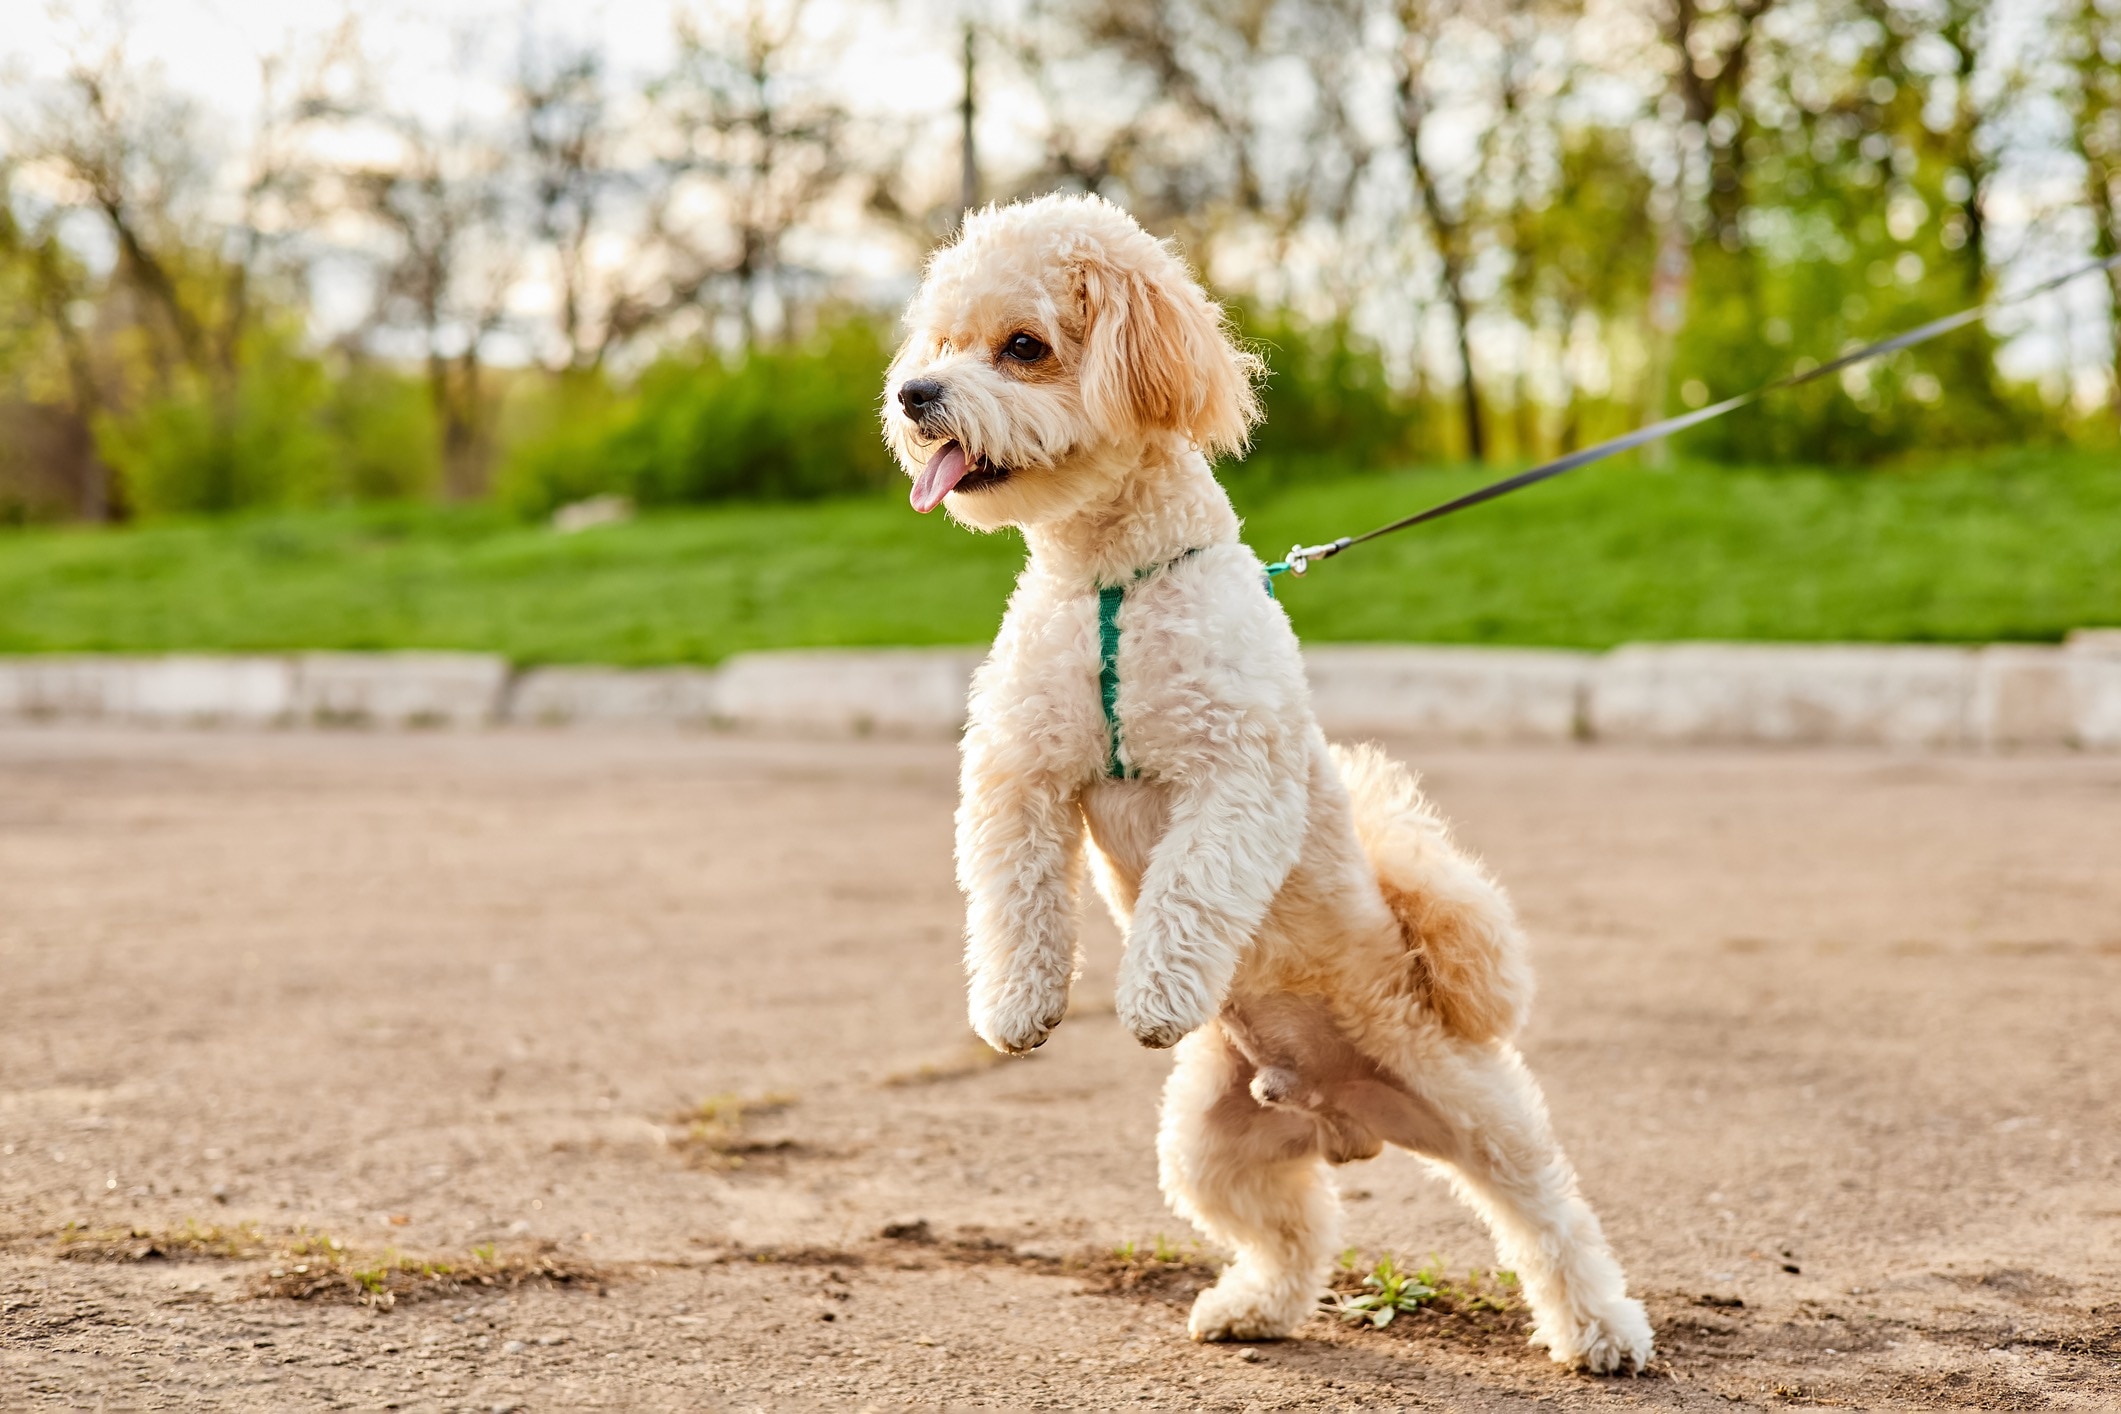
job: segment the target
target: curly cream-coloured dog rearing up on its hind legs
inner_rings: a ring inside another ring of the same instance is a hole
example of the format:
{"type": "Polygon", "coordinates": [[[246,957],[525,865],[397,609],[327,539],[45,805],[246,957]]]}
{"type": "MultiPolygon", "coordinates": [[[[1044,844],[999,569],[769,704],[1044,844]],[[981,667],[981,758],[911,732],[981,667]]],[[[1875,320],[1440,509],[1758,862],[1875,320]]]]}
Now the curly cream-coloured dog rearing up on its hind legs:
{"type": "Polygon", "coordinates": [[[884,422],[914,509],[1031,545],[963,748],[974,1028],[1029,1051],[1067,1013],[1088,835],[1126,933],[1120,1024],[1177,1045],[1164,1196],[1237,1253],[1196,1340],[1313,1312],[1328,1164],[1391,1143],[1487,1219],[1536,1344],[1640,1369],[1648,1319],[1510,1045],[1531,994],[1510,905],[1400,765],[1326,744],[1209,473],[1258,420],[1258,363],[1094,197],[971,216],[906,318],[884,422]]]}

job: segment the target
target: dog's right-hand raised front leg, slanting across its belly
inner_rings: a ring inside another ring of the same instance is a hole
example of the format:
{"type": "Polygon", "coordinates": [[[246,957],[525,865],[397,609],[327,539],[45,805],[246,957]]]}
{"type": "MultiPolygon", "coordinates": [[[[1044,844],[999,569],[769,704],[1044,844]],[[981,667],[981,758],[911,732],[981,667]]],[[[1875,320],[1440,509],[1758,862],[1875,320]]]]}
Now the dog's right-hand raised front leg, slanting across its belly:
{"type": "Polygon", "coordinates": [[[1237,962],[1304,844],[1309,789],[1277,736],[1224,748],[1173,786],[1120,960],[1116,1009],[1143,1045],[1177,1045],[1222,1009],[1237,962]]]}

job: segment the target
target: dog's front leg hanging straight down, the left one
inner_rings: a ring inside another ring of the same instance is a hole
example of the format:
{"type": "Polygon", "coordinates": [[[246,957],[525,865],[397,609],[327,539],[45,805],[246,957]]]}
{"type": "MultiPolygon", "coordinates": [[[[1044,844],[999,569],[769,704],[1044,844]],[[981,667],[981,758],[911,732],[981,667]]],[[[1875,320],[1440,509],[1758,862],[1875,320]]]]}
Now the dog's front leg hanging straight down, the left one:
{"type": "Polygon", "coordinates": [[[1067,1013],[1075,982],[1082,810],[1073,793],[1003,770],[967,742],[957,808],[971,1028],[1020,1056],[1067,1013]]]}

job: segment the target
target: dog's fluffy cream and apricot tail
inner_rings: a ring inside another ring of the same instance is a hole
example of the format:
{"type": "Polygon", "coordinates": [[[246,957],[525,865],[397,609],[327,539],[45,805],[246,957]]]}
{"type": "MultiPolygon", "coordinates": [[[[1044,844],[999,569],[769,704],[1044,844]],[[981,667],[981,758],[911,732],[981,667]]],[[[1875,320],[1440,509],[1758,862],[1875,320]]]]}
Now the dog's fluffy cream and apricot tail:
{"type": "Polygon", "coordinates": [[[1355,835],[1400,918],[1415,984],[1468,1041],[1508,1041],[1531,1009],[1525,935],[1502,884],[1451,844],[1415,776],[1377,746],[1334,746],[1355,835]]]}

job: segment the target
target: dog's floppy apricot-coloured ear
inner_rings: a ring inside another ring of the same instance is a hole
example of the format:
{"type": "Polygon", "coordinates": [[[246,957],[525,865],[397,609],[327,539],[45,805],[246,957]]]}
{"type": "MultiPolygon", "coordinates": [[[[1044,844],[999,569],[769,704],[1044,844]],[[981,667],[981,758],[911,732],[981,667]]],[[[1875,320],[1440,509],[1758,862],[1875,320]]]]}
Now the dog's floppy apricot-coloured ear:
{"type": "Polygon", "coordinates": [[[1184,432],[1209,456],[1243,452],[1260,420],[1260,360],[1177,257],[1152,250],[1143,263],[1099,252],[1080,267],[1084,405],[1107,426],[1184,432]]]}

